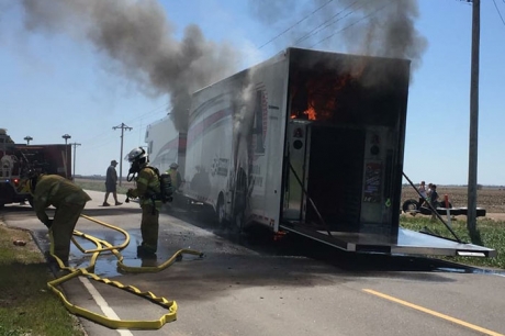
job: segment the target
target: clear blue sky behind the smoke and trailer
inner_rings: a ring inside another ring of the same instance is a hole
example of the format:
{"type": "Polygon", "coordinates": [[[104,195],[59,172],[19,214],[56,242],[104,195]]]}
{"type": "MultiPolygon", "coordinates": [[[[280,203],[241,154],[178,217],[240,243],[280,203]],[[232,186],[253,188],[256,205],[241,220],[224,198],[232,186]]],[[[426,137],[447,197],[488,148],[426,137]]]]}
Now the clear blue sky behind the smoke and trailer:
{"type": "MultiPolygon", "coordinates": [[[[324,15],[351,0],[334,0],[312,15],[327,0],[292,1],[289,8],[287,1],[273,0],[257,0],[256,5],[246,0],[145,2],[165,12],[167,34],[176,43],[188,25],[197,24],[209,43],[238,51],[240,57],[229,69],[240,70],[294,45],[324,15]]],[[[121,123],[133,127],[124,134],[123,156],[145,145],[146,125],[166,115],[169,96],[146,85],[142,71],[125,75],[124,64],[90,41],[87,24],[91,23],[76,23],[86,15],[64,15],[65,20],[26,29],[22,3],[0,0],[0,127],[18,143],[27,135],[32,144],[65,143],[61,135],[70,134],[69,143],[81,144],[76,173],[104,175],[111,159],[121,159],[121,131],[113,127],[121,123]]],[[[427,45],[412,74],[404,171],[415,182],[464,184],[472,7],[458,0],[418,0],[417,4],[414,24],[427,45]]],[[[505,184],[505,23],[500,13],[505,19],[505,0],[482,0],[478,170],[482,184],[505,184]]],[[[349,16],[296,46],[349,52],[341,42],[344,34],[351,35],[363,23],[341,31],[352,22],[349,16]]],[[[126,171],[124,163],[123,175],[126,171]]]]}

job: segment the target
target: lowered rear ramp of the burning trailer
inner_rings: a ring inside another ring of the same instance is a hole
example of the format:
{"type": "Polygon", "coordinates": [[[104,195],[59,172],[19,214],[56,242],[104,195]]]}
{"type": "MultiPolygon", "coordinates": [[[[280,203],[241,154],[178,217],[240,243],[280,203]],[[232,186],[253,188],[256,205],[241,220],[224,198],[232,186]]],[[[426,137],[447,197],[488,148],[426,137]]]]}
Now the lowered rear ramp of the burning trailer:
{"type": "Polygon", "coordinates": [[[388,237],[382,234],[315,231],[300,224],[284,224],[281,225],[281,227],[287,232],[296,233],[329,246],[354,253],[496,257],[495,249],[459,243],[452,239],[405,228],[399,229],[397,237],[388,237]]]}

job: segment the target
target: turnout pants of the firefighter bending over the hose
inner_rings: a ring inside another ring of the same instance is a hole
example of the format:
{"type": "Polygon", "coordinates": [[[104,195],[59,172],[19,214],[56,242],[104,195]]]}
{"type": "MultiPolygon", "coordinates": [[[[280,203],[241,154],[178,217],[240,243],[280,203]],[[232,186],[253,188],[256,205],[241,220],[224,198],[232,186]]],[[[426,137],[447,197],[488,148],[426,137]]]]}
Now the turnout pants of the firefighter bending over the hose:
{"type": "Polygon", "coordinates": [[[53,225],[50,226],[53,232],[54,254],[64,262],[68,261],[70,255],[70,239],[85,205],[86,203],[64,203],[55,211],[53,225]]]}

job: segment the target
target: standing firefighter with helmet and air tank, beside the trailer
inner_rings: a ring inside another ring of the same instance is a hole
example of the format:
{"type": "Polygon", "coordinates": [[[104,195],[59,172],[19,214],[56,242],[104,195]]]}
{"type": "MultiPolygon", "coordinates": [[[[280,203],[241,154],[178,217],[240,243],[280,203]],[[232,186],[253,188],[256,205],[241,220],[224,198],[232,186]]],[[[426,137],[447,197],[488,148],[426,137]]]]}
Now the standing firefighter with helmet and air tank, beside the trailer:
{"type": "Polygon", "coordinates": [[[155,257],[158,249],[159,209],[161,208],[161,200],[156,197],[160,194],[159,178],[156,171],[150,169],[147,154],[143,148],[133,148],[126,159],[131,164],[127,180],[135,179],[136,182],[136,188],[128,189],[126,197],[138,198],[142,209],[142,244],[137,246],[137,255],[155,257]]]}

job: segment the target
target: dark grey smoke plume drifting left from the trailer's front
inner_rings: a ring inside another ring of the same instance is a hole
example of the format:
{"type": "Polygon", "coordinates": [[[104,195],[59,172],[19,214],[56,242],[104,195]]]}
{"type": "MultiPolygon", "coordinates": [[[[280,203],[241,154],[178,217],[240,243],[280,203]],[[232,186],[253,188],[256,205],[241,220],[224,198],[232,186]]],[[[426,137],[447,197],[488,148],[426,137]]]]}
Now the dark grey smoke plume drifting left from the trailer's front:
{"type": "Polygon", "coordinates": [[[197,25],[173,37],[175,27],[156,0],[23,0],[25,27],[83,38],[109,56],[114,69],[149,94],[167,94],[179,131],[188,124],[190,94],[222,79],[238,52],[205,40],[197,25]]]}

